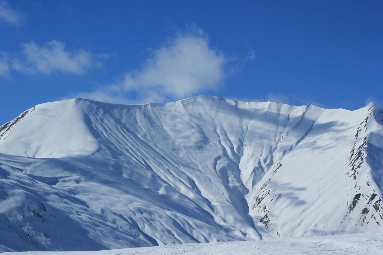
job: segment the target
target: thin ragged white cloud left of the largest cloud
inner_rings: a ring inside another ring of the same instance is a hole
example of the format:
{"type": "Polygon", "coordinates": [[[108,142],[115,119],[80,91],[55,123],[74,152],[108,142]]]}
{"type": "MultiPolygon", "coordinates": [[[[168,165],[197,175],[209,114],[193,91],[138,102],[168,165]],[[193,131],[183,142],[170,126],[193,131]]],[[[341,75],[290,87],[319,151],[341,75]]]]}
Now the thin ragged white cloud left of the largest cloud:
{"type": "Polygon", "coordinates": [[[23,44],[23,59],[13,59],[12,68],[27,74],[67,72],[83,74],[93,67],[100,67],[100,57],[84,50],[68,51],[60,41],[50,41],[39,46],[23,44]]]}

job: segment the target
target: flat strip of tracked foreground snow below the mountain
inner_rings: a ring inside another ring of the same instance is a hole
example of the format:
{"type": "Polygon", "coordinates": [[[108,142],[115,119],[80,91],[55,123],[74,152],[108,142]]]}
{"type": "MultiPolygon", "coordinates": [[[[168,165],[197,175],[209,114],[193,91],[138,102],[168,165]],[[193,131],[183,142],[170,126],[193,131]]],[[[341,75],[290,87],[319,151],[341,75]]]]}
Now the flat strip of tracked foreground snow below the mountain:
{"type": "Polygon", "coordinates": [[[143,255],[143,254],[382,254],[383,232],[298,237],[268,241],[171,244],[162,247],[127,248],[87,252],[8,252],[21,255],[143,255]]]}

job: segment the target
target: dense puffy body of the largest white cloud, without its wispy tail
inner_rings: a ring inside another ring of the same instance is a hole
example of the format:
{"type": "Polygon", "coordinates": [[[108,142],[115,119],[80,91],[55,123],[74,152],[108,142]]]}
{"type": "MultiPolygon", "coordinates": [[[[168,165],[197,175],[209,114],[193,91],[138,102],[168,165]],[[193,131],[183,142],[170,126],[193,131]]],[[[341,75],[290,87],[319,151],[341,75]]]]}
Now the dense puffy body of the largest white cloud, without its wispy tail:
{"type": "Polygon", "coordinates": [[[178,37],[154,51],[144,67],[124,77],[127,90],[163,87],[185,96],[202,88],[216,88],[224,77],[225,58],[209,47],[207,38],[178,37]]]}

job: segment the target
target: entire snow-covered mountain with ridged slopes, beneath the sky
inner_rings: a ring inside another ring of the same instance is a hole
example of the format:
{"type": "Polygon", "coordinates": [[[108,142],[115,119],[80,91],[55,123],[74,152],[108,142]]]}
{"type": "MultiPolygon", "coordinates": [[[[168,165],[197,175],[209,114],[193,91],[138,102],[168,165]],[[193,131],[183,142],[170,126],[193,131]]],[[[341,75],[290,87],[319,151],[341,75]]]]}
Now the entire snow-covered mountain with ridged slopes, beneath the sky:
{"type": "Polygon", "coordinates": [[[0,250],[374,232],[383,111],[70,99],[0,126],[0,250]]]}

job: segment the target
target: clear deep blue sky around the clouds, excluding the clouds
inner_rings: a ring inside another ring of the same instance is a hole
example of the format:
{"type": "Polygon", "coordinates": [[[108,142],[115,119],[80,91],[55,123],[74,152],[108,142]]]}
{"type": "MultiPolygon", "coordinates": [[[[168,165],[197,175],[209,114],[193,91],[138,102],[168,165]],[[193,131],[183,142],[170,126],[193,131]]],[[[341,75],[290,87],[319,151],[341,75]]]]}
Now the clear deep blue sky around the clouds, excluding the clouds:
{"type": "MultiPolygon", "coordinates": [[[[383,99],[383,1],[8,1],[21,25],[0,20],[0,52],[52,40],[107,54],[100,69],[76,75],[0,77],[0,124],[36,104],[113,83],[139,69],[151,48],[194,25],[210,47],[246,61],[217,90],[224,98],[281,99],[354,110],[383,99]]],[[[190,95],[193,96],[193,95],[190,95]]],[[[178,98],[181,99],[181,98],[178,98]]]]}

